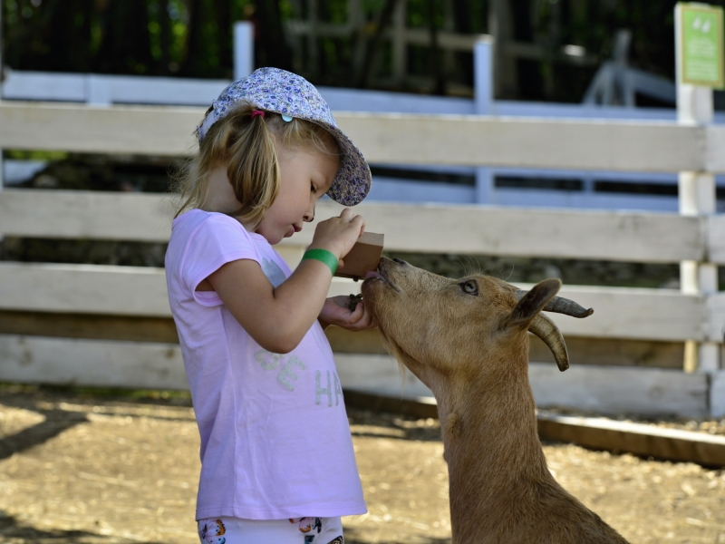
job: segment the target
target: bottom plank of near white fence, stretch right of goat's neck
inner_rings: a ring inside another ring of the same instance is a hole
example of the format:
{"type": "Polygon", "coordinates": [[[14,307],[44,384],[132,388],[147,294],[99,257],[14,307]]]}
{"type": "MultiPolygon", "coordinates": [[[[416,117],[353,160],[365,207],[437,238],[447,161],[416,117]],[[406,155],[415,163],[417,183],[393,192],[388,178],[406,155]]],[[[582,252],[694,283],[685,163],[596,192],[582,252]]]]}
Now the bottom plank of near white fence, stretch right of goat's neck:
{"type": "Polygon", "coordinates": [[[540,408],[687,417],[710,414],[705,374],[614,366],[572,366],[562,373],[555,364],[532,363],[528,375],[540,408]]]}

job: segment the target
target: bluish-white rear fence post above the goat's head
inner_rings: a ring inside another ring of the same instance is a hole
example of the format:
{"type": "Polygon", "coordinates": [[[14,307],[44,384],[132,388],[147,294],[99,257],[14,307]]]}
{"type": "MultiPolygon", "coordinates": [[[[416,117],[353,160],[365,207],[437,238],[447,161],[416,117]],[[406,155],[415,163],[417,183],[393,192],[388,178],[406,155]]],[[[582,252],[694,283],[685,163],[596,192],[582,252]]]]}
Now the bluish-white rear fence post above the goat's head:
{"type": "MultiPolygon", "coordinates": [[[[473,92],[474,112],[477,115],[493,114],[494,56],[493,38],[481,36],[473,46],[473,92]]],[[[476,169],[476,203],[493,204],[495,202],[496,180],[490,168],[476,169]]]]}

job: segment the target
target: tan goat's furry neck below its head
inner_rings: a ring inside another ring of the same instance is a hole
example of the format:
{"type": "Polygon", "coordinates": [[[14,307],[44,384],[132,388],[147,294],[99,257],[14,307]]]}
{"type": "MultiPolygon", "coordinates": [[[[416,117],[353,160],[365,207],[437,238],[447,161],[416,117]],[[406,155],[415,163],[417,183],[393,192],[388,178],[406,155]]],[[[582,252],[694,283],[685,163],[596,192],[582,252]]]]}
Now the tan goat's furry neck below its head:
{"type": "Polygon", "coordinates": [[[472,521],[480,529],[481,520],[500,519],[532,485],[556,485],[536,431],[527,352],[489,360],[485,366],[495,368],[494,375],[436,392],[454,536],[468,532],[472,521]]]}

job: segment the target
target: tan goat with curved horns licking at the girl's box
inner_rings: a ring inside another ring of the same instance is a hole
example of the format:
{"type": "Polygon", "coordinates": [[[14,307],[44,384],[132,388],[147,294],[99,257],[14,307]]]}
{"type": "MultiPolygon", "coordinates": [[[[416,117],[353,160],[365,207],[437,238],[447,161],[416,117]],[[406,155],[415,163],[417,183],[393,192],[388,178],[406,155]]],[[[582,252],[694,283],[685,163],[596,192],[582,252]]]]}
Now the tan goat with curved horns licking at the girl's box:
{"type": "Polygon", "coordinates": [[[453,280],[383,258],[362,284],[391,352],[438,401],[455,544],[626,542],[546,468],[528,382],[527,331],[561,370],[566,347],[542,310],[592,313],[557,297],[558,279],[522,292],[495,277],[453,280]]]}

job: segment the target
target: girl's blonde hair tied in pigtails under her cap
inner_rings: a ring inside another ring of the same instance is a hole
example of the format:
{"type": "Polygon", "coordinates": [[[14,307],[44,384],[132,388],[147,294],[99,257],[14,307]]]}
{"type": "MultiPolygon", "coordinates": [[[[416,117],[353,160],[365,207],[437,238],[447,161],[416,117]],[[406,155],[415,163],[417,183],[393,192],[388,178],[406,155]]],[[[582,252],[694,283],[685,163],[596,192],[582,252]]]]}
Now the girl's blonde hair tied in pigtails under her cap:
{"type": "Polygon", "coordinates": [[[279,161],[275,140],[291,149],[317,149],[337,154],[332,134],[304,119],[284,121],[274,112],[255,115],[256,108],[238,104],[216,121],[199,143],[198,154],[179,175],[176,216],[198,208],[207,198],[212,170],[227,164],[227,178],[241,207],[230,215],[247,228],[256,228],[279,192],[279,161]],[[331,151],[334,150],[334,151],[331,151]]]}

